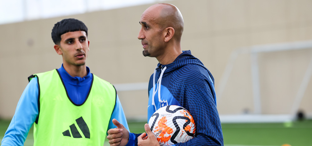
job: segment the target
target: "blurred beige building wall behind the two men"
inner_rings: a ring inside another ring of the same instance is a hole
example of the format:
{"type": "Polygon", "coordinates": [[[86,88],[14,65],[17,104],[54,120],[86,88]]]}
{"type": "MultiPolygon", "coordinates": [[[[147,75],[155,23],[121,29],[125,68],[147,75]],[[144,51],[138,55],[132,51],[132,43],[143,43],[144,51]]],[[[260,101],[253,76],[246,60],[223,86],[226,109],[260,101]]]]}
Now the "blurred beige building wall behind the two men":
{"type": "MultiPolygon", "coordinates": [[[[182,49],[190,49],[211,71],[217,91],[237,49],[312,40],[310,0],[168,2],[176,5],[184,18],[182,49]]],[[[0,25],[0,118],[12,118],[28,76],[61,67],[51,29],[63,18],[76,18],[88,26],[87,66],[92,73],[117,85],[148,82],[158,61],[142,55],[137,35],[140,16],[150,5],[0,25]]],[[[254,112],[250,57],[238,55],[222,96],[217,94],[221,115],[254,112]]],[[[290,112],[311,57],[312,49],[258,54],[263,114],[290,112]]],[[[300,109],[310,113],[311,89],[310,79],[300,103],[300,109]]],[[[147,117],[147,93],[147,87],[118,92],[128,119],[147,117]]]]}

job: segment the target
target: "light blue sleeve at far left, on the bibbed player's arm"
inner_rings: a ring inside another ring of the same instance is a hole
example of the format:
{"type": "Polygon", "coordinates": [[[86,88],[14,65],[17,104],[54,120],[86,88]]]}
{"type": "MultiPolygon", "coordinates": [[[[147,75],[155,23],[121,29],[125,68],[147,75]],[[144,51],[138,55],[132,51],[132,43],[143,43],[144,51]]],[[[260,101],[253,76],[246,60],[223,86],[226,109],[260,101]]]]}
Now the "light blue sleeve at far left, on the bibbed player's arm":
{"type": "Polygon", "coordinates": [[[1,142],[1,146],[22,146],[38,115],[38,83],[33,78],[17,103],[15,114],[1,142]]]}

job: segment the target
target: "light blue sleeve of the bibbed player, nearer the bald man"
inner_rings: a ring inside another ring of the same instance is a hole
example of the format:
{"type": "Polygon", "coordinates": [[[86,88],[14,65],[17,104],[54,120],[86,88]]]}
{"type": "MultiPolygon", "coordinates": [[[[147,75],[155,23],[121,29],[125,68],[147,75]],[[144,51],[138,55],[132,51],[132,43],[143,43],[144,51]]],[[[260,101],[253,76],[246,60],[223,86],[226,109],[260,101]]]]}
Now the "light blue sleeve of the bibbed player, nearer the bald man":
{"type": "Polygon", "coordinates": [[[124,125],[124,127],[130,132],[129,127],[128,127],[128,123],[127,123],[127,119],[126,119],[126,116],[124,115],[124,110],[122,109],[118,95],[116,97],[115,107],[114,107],[113,113],[110,117],[110,123],[108,124],[107,130],[117,128],[117,126],[115,126],[112,122],[113,119],[116,119],[119,123],[124,125]]]}

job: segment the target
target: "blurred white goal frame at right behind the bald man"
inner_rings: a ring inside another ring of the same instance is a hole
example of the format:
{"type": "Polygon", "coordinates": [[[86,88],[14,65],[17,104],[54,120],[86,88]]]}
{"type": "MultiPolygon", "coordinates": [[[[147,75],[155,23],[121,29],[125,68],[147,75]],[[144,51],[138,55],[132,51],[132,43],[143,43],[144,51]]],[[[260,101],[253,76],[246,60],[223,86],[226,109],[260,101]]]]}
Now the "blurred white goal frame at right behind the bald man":
{"type": "Polygon", "coordinates": [[[288,50],[300,50],[300,49],[312,49],[312,41],[301,41],[291,43],[280,43],[270,45],[256,45],[251,47],[239,48],[232,52],[231,57],[226,65],[226,68],[220,79],[220,83],[217,87],[217,104],[220,104],[220,98],[222,97],[225,86],[230,77],[234,62],[240,54],[250,54],[251,56],[251,77],[252,77],[252,93],[254,113],[246,115],[220,115],[222,123],[232,122],[285,122],[296,119],[296,113],[299,110],[300,103],[304,96],[304,93],[308,87],[312,76],[312,54],[308,67],[305,71],[305,75],[300,83],[299,90],[295,96],[294,103],[290,109],[290,114],[282,115],[264,115],[261,113],[261,94],[260,94],[260,82],[259,82],[259,66],[258,66],[258,53],[267,52],[279,52],[288,50]]]}

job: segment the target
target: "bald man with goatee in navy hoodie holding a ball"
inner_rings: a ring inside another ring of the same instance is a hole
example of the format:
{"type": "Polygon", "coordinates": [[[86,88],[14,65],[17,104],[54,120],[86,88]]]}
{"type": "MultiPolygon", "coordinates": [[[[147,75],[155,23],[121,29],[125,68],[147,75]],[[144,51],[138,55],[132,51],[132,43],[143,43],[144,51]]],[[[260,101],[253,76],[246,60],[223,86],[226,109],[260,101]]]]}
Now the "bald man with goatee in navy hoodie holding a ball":
{"type": "MultiPolygon", "coordinates": [[[[216,107],[214,79],[191,51],[182,51],[183,17],[179,9],[168,3],[155,4],[146,9],[139,21],[138,39],[144,56],[155,57],[158,64],[149,79],[148,121],[163,106],[178,105],[187,109],[196,125],[195,137],[175,146],[223,145],[222,128],[216,107]],[[161,89],[161,90],[160,90],[161,89]]],[[[129,133],[117,120],[116,129],[108,131],[111,146],[159,146],[150,130],[129,133]]]]}

